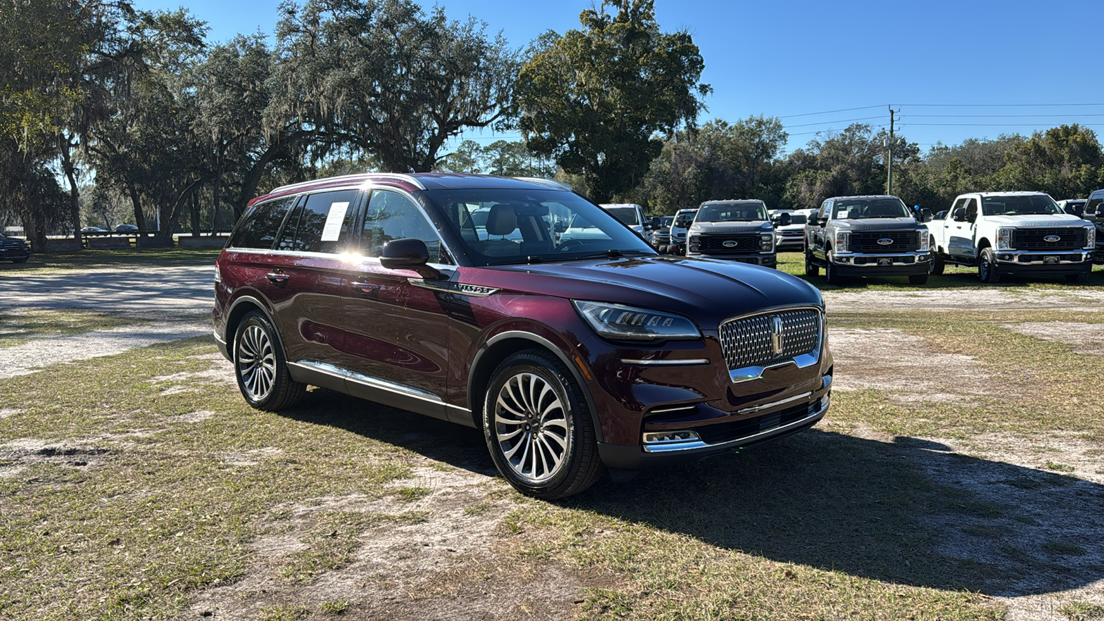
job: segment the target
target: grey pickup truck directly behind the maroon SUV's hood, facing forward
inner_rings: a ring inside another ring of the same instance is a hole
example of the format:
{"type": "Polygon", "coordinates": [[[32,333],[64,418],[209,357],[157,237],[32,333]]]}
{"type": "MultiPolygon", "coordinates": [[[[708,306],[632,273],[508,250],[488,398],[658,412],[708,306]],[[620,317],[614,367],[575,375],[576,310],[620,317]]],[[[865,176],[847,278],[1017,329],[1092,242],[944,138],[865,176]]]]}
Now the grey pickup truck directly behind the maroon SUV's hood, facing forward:
{"type": "MultiPolygon", "coordinates": [[[[783,223],[789,215],[783,214],[783,223]]],[[[713,200],[701,203],[687,233],[687,256],[726,259],[774,267],[774,225],[761,200],[713,200]]]]}

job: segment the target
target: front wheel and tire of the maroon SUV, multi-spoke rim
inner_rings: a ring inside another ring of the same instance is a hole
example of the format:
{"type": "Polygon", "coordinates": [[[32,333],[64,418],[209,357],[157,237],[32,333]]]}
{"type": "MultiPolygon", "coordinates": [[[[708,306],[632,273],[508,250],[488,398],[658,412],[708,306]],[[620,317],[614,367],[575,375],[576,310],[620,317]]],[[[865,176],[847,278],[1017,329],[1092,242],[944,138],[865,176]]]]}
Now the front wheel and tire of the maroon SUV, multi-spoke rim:
{"type": "Polygon", "coordinates": [[[495,466],[522,494],[571,496],[594,485],[602,472],[582,387],[545,351],[502,360],[487,387],[482,420],[495,466]]]}

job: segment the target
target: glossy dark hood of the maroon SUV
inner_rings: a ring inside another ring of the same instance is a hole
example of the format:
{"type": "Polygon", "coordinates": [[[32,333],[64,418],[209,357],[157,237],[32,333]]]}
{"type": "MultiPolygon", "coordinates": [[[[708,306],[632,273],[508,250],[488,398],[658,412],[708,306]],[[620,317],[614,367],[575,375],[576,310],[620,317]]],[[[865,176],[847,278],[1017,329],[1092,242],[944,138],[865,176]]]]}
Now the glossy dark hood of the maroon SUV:
{"type": "Polygon", "coordinates": [[[758,265],[680,256],[564,261],[464,270],[461,282],[571,299],[612,302],[686,315],[703,330],[776,306],[824,306],[805,281],[758,265]]]}

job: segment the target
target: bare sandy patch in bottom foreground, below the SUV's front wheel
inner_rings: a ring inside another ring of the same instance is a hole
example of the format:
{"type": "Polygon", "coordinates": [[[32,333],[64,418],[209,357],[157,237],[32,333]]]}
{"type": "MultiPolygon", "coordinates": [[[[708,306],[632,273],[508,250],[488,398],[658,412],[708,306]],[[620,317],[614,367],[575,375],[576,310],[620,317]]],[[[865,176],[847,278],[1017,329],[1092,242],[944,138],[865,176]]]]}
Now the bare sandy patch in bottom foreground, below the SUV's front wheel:
{"type": "Polygon", "coordinates": [[[554,566],[511,571],[500,522],[518,502],[524,501],[497,477],[424,465],[386,486],[381,497],[318,498],[274,509],[280,517],[255,541],[251,571],[234,585],[204,591],[191,611],[253,619],[282,606],[320,610],[344,602],[349,614],[372,619],[570,615],[573,602],[582,600],[575,577],[554,566]],[[351,561],[307,583],[279,575],[290,557],[310,554],[307,535],[335,513],[374,517],[355,537],[351,561]]]}

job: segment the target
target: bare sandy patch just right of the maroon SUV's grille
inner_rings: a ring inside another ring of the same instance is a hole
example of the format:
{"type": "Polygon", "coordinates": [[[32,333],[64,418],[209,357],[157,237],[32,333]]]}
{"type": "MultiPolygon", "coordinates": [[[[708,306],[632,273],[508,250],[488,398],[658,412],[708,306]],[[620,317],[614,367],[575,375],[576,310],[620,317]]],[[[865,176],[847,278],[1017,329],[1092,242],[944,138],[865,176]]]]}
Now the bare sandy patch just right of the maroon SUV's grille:
{"type": "Polygon", "coordinates": [[[896,328],[829,328],[828,341],[835,390],[885,390],[899,403],[965,404],[972,397],[1008,394],[973,357],[936,351],[924,337],[896,328]],[[953,386],[946,377],[956,378],[953,386]]]}

